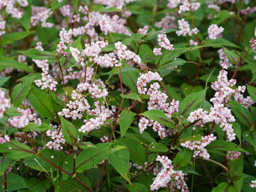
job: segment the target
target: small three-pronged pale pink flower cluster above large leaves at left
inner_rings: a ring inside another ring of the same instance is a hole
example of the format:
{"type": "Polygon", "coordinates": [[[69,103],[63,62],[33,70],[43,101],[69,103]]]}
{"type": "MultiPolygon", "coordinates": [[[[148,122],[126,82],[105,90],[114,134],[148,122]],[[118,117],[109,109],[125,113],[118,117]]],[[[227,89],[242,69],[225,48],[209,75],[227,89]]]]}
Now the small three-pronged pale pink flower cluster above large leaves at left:
{"type": "Polygon", "coordinates": [[[49,88],[51,91],[56,91],[57,81],[53,81],[51,75],[48,73],[49,68],[43,68],[42,79],[35,80],[35,84],[41,87],[41,90],[49,88]]]}

